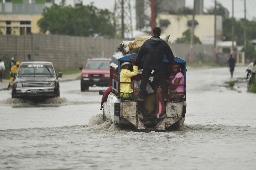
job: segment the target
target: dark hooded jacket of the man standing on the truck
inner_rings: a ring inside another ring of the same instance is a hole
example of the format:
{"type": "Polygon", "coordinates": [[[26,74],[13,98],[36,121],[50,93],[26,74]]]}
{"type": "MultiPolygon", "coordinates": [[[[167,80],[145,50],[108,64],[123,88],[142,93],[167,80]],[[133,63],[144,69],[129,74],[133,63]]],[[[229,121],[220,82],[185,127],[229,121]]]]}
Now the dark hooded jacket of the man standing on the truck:
{"type": "Polygon", "coordinates": [[[140,62],[144,56],[144,68],[162,67],[164,54],[170,63],[174,63],[174,55],[169,45],[160,37],[151,37],[140,47],[136,62],[140,62]]]}

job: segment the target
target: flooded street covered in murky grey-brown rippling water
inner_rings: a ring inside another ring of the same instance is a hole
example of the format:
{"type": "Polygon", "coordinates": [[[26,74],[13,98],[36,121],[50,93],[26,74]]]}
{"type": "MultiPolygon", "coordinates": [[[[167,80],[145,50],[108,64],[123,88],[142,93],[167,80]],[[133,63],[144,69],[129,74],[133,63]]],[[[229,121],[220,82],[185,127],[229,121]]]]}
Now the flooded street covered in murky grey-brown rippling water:
{"type": "Polygon", "coordinates": [[[255,169],[256,95],[245,70],[231,79],[227,67],[188,69],[184,127],[168,132],[102,124],[106,87],[81,92],[80,80],[41,102],[0,91],[0,169],[255,169]]]}

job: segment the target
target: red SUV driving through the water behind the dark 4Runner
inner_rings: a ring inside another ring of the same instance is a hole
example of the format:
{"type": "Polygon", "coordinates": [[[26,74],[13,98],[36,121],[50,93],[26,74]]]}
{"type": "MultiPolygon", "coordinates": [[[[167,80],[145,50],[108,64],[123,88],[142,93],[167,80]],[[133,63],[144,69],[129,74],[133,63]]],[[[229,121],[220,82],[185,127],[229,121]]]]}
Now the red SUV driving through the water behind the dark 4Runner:
{"type": "Polygon", "coordinates": [[[81,73],[81,91],[88,91],[89,86],[108,86],[111,59],[87,59],[81,73]]]}

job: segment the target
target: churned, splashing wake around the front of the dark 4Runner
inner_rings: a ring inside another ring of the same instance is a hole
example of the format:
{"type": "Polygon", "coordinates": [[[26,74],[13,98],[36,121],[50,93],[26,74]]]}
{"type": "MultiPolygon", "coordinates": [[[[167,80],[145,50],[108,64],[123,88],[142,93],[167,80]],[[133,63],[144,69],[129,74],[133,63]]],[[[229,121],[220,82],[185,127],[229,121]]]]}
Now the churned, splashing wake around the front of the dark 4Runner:
{"type": "Polygon", "coordinates": [[[68,101],[65,97],[53,97],[41,100],[28,100],[23,98],[7,98],[2,100],[0,105],[9,105],[13,107],[58,107],[63,105],[84,105],[100,102],[80,102],[80,101],[68,101]]]}

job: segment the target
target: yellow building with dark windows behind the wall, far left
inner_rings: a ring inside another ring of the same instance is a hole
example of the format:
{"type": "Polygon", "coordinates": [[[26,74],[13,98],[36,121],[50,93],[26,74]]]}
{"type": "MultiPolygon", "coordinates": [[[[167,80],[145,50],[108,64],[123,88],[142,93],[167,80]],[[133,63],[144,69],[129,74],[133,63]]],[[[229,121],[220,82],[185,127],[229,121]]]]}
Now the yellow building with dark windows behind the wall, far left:
{"type": "Polygon", "coordinates": [[[39,33],[42,15],[0,15],[0,34],[28,35],[39,33]]]}

